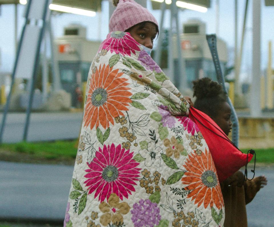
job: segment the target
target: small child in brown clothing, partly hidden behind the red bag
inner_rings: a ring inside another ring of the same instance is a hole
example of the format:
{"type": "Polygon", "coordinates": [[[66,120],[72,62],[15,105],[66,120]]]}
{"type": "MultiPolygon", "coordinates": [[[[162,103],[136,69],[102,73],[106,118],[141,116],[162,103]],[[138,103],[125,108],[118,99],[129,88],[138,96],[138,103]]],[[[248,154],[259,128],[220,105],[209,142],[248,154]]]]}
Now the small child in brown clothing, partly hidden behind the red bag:
{"type": "MultiPolygon", "coordinates": [[[[228,136],[232,128],[231,108],[222,86],[207,77],[193,81],[193,84],[193,97],[197,98],[194,107],[210,116],[228,136]]],[[[221,183],[225,203],[225,227],[247,226],[245,205],[251,202],[266,184],[265,176],[245,181],[241,171],[237,171],[221,183]]]]}

